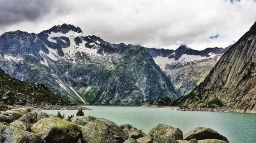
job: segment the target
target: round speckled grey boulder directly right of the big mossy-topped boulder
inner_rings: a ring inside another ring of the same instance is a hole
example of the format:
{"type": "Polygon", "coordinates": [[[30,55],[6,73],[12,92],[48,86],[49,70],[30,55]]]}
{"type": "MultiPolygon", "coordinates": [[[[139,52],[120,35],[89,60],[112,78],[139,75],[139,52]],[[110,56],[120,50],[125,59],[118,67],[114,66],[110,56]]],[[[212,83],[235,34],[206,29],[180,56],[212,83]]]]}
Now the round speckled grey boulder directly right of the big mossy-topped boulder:
{"type": "Polygon", "coordinates": [[[112,143],[115,142],[114,135],[109,127],[101,121],[90,122],[81,129],[82,143],[112,143]]]}

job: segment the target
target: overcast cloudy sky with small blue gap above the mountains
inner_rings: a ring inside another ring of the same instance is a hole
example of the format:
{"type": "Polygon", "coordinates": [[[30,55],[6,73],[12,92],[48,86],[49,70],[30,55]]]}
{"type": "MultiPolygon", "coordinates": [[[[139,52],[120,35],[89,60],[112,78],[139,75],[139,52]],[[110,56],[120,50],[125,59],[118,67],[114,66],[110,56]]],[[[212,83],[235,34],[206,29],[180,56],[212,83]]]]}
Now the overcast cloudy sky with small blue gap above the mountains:
{"type": "Polygon", "coordinates": [[[0,34],[68,23],[111,43],[166,49],[227,47],[255,21],[255,0],[0,0],[0,34]]]}

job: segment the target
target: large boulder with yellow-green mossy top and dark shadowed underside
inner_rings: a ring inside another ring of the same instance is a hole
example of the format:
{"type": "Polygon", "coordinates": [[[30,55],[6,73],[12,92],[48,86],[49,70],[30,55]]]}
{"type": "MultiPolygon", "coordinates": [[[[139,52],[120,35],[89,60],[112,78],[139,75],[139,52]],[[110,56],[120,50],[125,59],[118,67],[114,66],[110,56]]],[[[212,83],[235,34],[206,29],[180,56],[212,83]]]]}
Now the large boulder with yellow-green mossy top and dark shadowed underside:
{"type": "Polygon", "coordinates": [[[58,118],[41,119],[31,127],[31,130],[49,143],[77,142],[80,137],[80,127],[58,118]]]}

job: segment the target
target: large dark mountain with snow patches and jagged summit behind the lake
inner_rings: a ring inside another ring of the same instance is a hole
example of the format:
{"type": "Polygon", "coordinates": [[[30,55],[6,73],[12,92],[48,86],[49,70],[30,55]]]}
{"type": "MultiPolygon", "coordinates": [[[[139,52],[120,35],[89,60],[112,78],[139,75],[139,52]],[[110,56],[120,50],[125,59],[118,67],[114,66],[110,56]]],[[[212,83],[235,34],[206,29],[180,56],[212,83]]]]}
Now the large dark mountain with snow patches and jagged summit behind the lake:
{"type": "Polygon", "coordinates": [[[76,103],[138,105],[178,98],[169,78],[142,49],[62,24],[38,34],[2,34],[0,67],[76,103]]]}

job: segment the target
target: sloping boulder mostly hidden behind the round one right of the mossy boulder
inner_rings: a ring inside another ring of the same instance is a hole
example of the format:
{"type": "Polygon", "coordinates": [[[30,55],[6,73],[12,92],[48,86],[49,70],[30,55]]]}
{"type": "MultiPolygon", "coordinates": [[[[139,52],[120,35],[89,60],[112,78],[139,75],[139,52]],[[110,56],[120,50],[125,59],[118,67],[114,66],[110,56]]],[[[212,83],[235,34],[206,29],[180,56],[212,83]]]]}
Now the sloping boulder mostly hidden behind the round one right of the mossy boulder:
{"type": "Polygon", "coordinates": [[[128,139],[128,135],[125,134],[124,130],[122,130],[122,128],[118,125],[115,124],[115,122],[112,122],[110,120],[107,119],[102,119],[102,118],[97,118],[95,121],[101,121],[104,122],[105,125],[107,125],[107,127],[109,127],[109,130],[117,136],[121,136],[122,137],[122,142],[124,142],[125,140],[128,139]]]}

